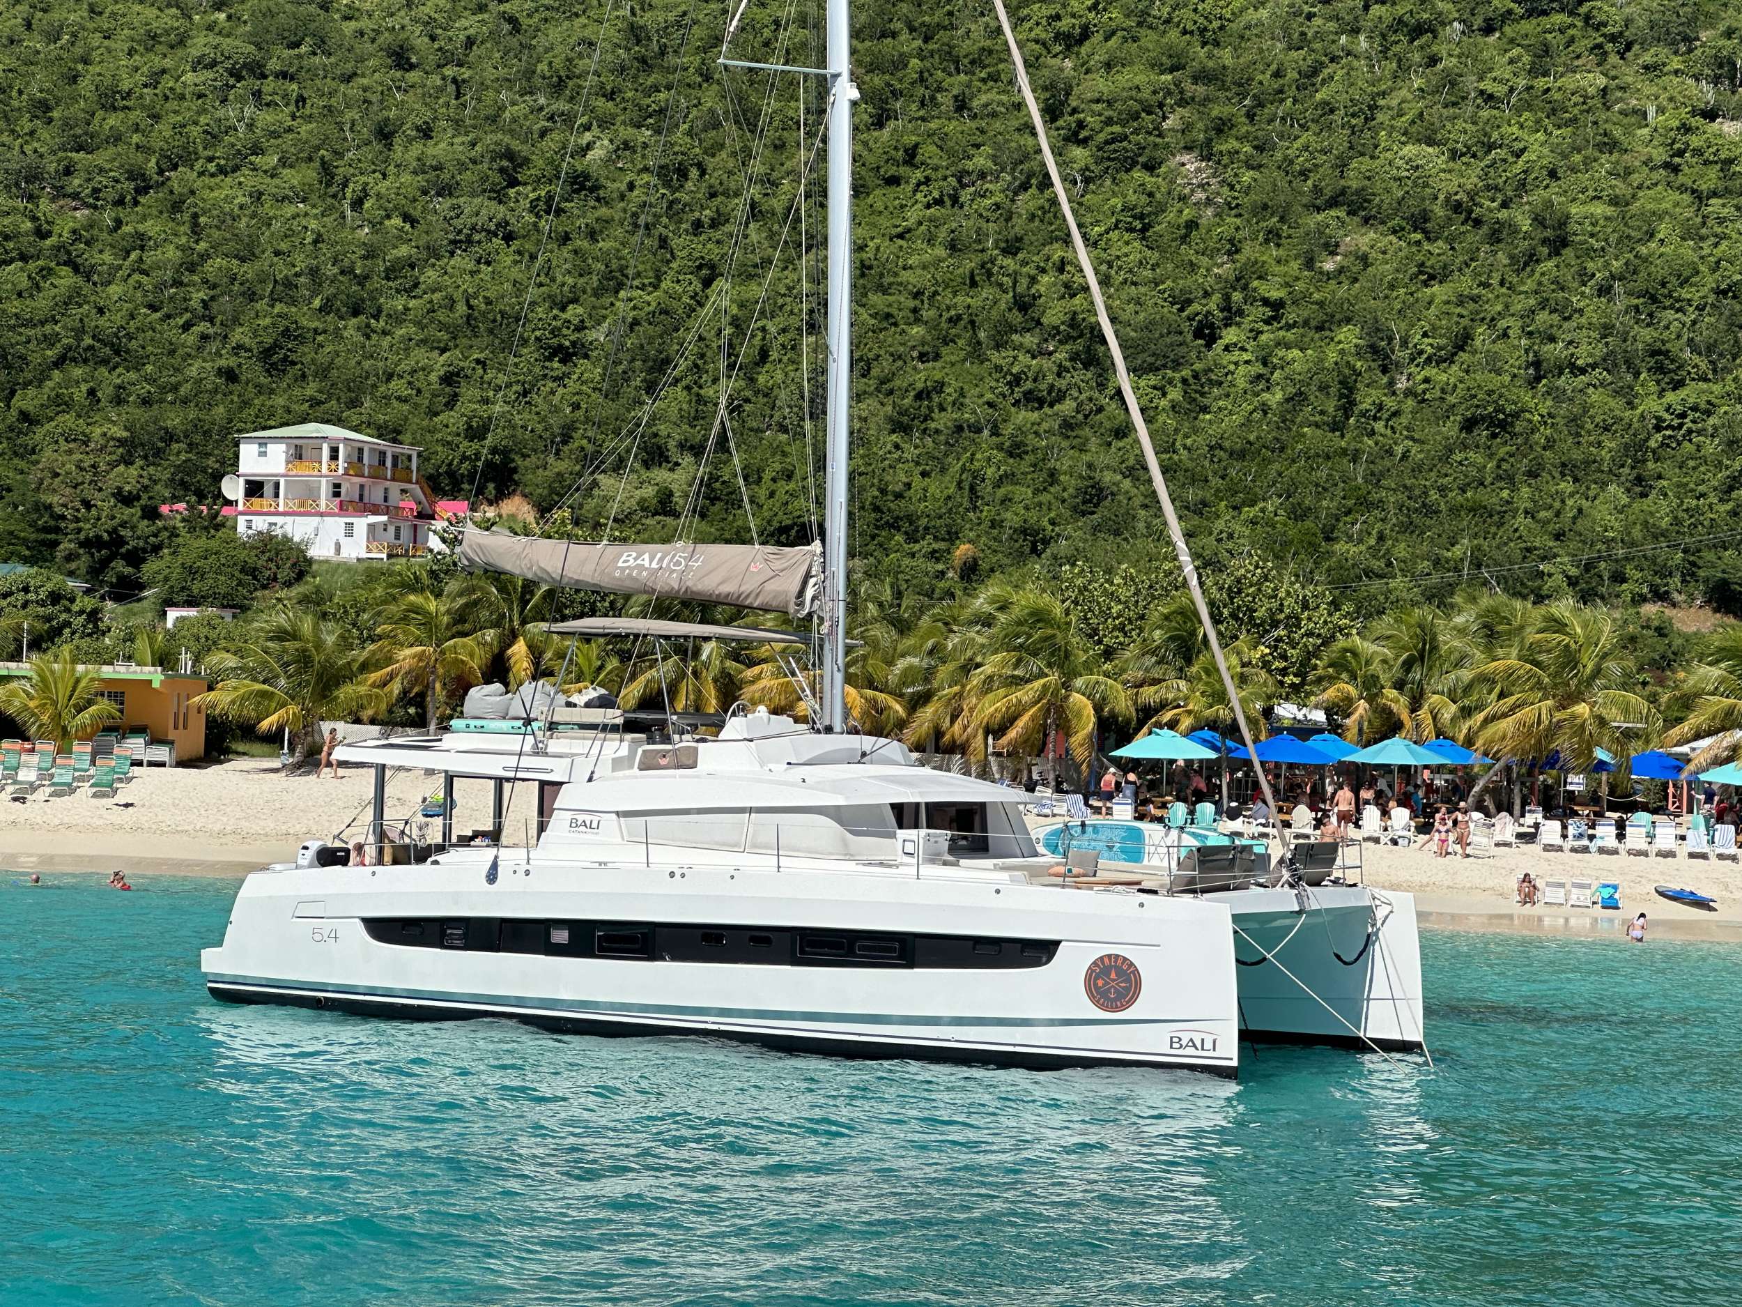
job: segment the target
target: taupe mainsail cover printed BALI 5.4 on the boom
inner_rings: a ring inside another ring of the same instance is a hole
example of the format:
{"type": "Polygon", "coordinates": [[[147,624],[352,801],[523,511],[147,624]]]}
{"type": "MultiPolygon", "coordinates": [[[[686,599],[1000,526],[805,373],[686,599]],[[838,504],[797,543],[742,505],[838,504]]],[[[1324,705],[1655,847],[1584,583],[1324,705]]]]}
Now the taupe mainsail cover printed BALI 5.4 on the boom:
{"type": "Polygon", "coordinates": [[[505,572],[544,586],[660,599],[728,603],[810,617],[817,610],[817,545],[606,544],[542,540],[467,528],[456,551],[472,572],[505,572]]]}

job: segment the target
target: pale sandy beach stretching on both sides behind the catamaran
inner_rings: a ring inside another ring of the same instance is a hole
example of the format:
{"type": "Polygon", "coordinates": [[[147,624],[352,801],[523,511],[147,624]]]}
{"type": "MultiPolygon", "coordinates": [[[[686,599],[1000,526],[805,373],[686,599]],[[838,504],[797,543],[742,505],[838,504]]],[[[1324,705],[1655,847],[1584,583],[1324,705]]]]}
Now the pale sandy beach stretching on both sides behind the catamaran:
{"type": "MultiPolygon", "coordinates": [[[[267,863],[291,861],[303,840],[331,838],[368,817],[371,772],[362,767],[315,779],[282,775],[270,760],[240,758],[214,767],[136,772],[113,800],[77,791],[70,798],[31,796],[0,809],[0,868],[7,871],[101,871],[129,875],[235,877],[267,863]]],[[[411,812],[439,784],[436,774],[399,774],[387,788],[390,816],[411,812]]],[[[490,817],[490,788],[462,782],[456,830],[490,817]]],[[[523,786],[509,810],[512,831],[533,816],[535,795],[523,786]]],[[[1425,925],[1456,929],[1573,931],[1620,934],[1622,920],[1650,913],[1651,938],[1742,941],[1742,868],[1688,857],[1543,852],[1535,845],[1477,849],[1469,859],[1434,857],[1428,849],[1364,843],[1362,878],[1416,894],[1425,925]],[[1514,885],[1523,871],[1545,877],[1615,880],[1624,911],[1596,908],[1519,908],[1514,885]],[[1653,894],[1653,885],[1688,885],[1718,899],[1718,911],[1685,908],[1653,894]]]]}

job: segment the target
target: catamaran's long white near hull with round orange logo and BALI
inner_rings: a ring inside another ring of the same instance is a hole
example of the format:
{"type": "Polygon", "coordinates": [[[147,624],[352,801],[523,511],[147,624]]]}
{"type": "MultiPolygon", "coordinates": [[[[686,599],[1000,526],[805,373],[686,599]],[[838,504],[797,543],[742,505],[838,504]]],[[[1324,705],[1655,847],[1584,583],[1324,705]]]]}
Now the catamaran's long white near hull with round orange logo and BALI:
{"type": "Polygon", "coordinates": [[[502,866],[495,885],[483,863],[256,871],[225,943],[200,955],[207,990],[866,1058],[1239,1067],[1221,904],[1061,904],[1054,887],[826,871],[523,866],[502,866]],[[413,925],[439,934],[397,943],[413,925]],[[766,950],[756,958],[753,936],[766,950]],[[517,951],[535,941],[561,953],[517,951]],[[599,955],[608,945],[627,951],[599,955]],[[845,955],[817,957],[817,945],[845,955]],[[697,960],[706,950],[732,960],[697,960]]]}

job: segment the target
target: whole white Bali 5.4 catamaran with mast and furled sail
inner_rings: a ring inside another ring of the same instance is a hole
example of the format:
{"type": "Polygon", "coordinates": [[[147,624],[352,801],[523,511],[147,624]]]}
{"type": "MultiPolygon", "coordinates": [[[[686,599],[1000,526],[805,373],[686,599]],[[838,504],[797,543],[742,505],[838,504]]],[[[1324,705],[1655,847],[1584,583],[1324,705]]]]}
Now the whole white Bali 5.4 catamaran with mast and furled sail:
{"type": "MultiPolygon", "coordinates": [[[[807,71],[807,70],[800,70],[807,71]]],[[[847,0],[827,5],[829,303],[850,298],[847,0]]],[[[1242,1032],[1421,1046],[1406,894],[1306,885],[1289,864],[1085,887],[1056,875],[1019,791],[920,765],[845,708],[850,314],[827,314],[822,551],[639,545],[467,530],[469,568],[817,617],[814,725],[735,709],[718,737],[665,714],[556,706],[519,721],[345,744],[375,767],[364,866],[348,836],[242,884],[209,992],[408,1018],[702,1033],[777,1047],[1024,1067],[1233,1075],[1242,1032]],[[542,720],[535,720],[535,716],[542,720]],[[441,835],[385,812],[388,769],[444,777],[441,835]],[[488,843],[455,843],[458,779],[490,781],[488,843]],[[507,847],[503,795],[538,796],[507,847]]],[[[754,627],[585,619],[582,638],[810,643],[754,627]]],[[[521,714],[517,714],[521,716],[521,714]]],[[[1232,845],[1230,845],[1232,847],[1232,845]]]]}

